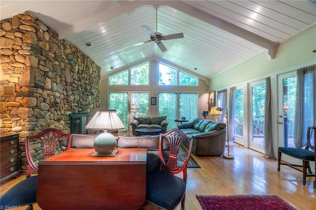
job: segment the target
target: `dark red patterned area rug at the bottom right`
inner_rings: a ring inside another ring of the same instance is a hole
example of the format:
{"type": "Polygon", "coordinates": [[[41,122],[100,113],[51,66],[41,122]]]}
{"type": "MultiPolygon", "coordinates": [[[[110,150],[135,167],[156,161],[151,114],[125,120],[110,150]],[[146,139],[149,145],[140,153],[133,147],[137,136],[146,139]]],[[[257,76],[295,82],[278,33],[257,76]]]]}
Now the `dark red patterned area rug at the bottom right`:
{"type": "Polygon", "coordinates": [[[197,195],[202,210],[295,210],[276,195],[197,195]]]}

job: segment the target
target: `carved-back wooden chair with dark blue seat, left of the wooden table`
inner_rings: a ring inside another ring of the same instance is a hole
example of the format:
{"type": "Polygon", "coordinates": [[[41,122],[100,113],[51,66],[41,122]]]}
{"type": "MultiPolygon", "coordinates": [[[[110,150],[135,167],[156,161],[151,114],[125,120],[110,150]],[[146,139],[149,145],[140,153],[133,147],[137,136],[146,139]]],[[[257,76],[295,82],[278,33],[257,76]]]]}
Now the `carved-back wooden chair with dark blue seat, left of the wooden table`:
{"type": "Polygon", "coordinates": [[[65,134],[61,131],[53,128],[46,129],[39,134],[26,137],[25,147],[29,169],[27,171],[26,179],[20,181],[3,196],[0,197],[0,205],[6,208],[19,208],[22,206],[28,206],[28,210],[33,210],[33,204],[36,202],[36,189],[38,176],[32,175],[32,171],[38,172],[38,164],[32,159],[31,147],[32,145],[40,143],[43,148],[43,158],[46,159],[55,154],[56,146],[62,138],[69,138],[71,140],[71,134],[65,134]]]}

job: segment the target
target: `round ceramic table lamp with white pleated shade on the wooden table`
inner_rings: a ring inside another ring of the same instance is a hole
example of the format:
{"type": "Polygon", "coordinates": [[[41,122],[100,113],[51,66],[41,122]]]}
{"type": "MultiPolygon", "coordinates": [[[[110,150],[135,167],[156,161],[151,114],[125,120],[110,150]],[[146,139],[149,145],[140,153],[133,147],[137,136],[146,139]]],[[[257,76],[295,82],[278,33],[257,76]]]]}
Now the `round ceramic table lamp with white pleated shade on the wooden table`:
{"type": "Polygon", "coordinates": [[[99,134],[93,143],[94,156],[111,156],[115,155],[118,150],[114,150],[117,144],[115,137],[108,133],[108,130],[118,130],[125,128],[124,124],[118,117],[116,110],[98,110],[85,129],[103,130],[104,133],[99,134]]]}

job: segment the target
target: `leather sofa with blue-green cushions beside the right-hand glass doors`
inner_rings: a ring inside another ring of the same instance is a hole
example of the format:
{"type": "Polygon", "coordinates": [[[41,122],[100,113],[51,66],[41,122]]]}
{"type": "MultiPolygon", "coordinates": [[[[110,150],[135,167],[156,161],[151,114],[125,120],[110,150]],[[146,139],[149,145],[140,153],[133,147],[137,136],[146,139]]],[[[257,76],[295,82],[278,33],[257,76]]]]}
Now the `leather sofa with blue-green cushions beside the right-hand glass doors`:
{"type": "MultiPolygon", "coordinates": [[[[193,139],[192,152],[195,155],[222,155],[225,151],[226,124],[200,118],[182,123],[178,128],[193,139]]],[[[188,147],[189,142],[184,142],[188,147]]]]}

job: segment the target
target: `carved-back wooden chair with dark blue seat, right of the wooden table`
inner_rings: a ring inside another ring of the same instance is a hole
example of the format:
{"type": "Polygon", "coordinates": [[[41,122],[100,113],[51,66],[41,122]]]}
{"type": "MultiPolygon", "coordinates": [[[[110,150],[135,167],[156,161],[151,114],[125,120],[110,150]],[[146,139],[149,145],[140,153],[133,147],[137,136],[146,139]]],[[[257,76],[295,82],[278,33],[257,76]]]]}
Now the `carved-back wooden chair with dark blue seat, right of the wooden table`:
{"type": "Polygon", "coordinates": [[[159,159],[161,170],[147,174],[146,201],[159,208],[166,210],[175,209],[181,202],[181,209],[185,208],[185,193],[187,184],[187,165],[191,155],[193,140],[185,136],[180,130],[172,129],[165,134],[159,135],[159,159]],[[170,145],[168,157],[164,157],[162,151],[164,141],[170,145]],[[177,155],[181,143],[190,141],[188,154],[184,164],[179,168],[177,155]],[[182,172],[183,177],[176,176],[182,172]]]}

